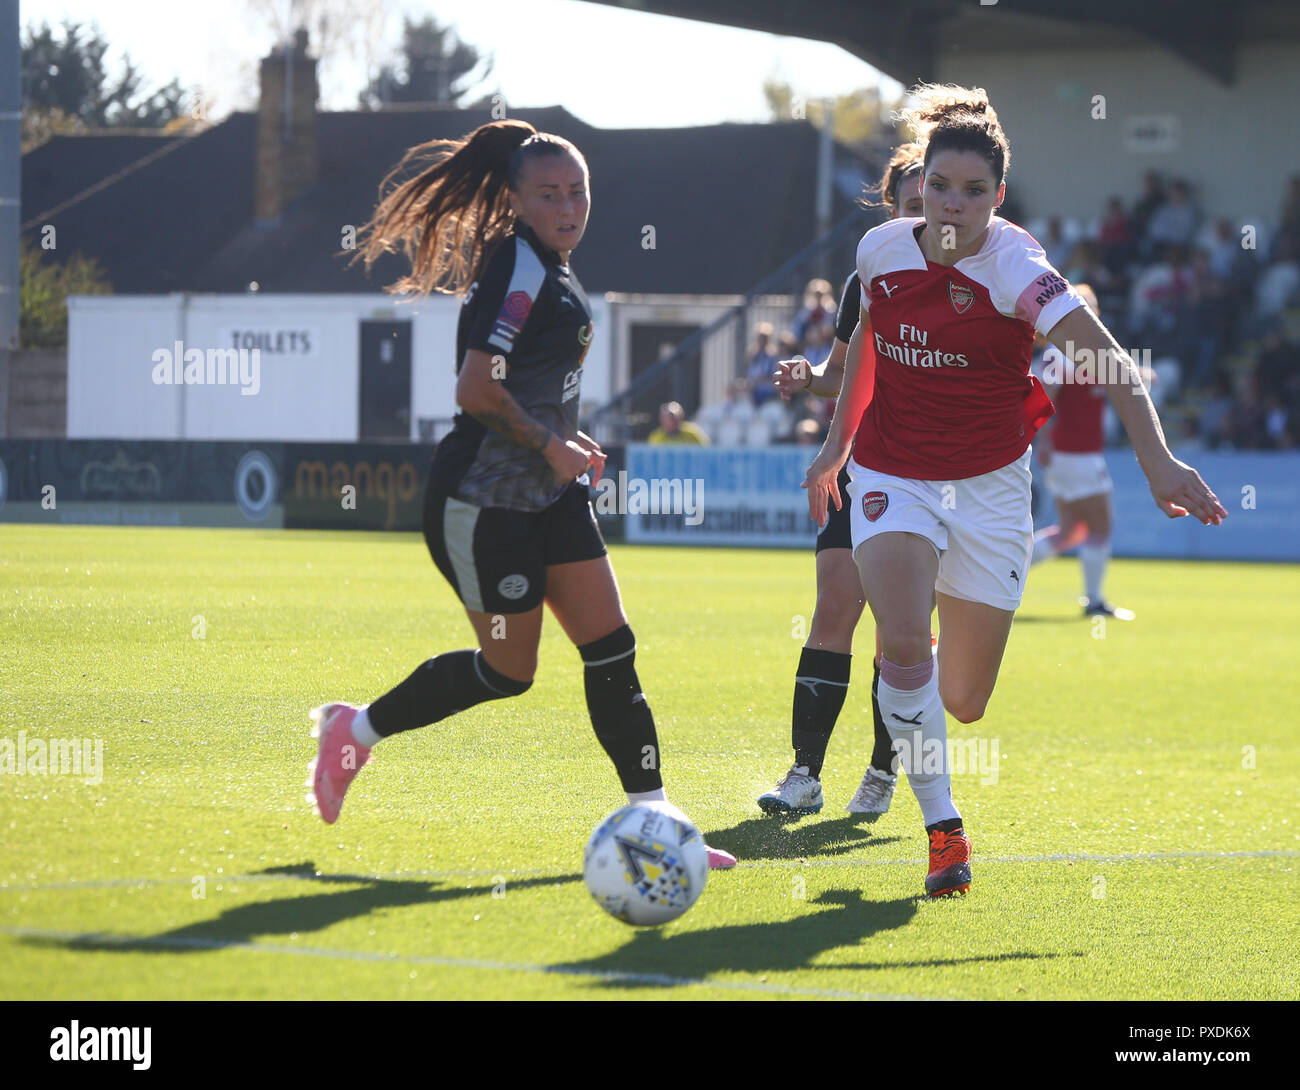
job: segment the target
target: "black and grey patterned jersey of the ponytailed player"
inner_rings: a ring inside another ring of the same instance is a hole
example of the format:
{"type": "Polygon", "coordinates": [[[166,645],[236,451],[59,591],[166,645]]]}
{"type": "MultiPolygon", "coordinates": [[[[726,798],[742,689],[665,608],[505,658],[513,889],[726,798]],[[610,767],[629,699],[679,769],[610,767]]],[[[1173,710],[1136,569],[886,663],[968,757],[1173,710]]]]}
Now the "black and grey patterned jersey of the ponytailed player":
{"type": "MultiPolygon", "coordinates": [[[[559,255],[519,224],[488,259],[460,306],[456,373],[477,349],[506,363],[503,384],[519,407],[560,438],[577,434],[582,359],[592,343],[586,293],[559,255]]],[[[541,511],[571,481],[550,463],[468,412],[458,412],[433,459],[437,483],[476,507],[541,511]]]]}

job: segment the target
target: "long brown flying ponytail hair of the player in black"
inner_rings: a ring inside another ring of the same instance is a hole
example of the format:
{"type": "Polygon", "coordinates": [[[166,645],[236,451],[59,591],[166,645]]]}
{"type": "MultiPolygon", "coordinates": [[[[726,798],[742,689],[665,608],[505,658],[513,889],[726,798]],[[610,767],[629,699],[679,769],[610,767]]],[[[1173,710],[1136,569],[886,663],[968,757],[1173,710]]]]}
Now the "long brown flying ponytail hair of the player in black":
{"type": "Polygon", "coordinates": [[[573,144],[538,133],[526,121],[493,121],[459,140],[408,148],[380,183],[380,203],[359,232],[352,261],[363,259],[369,272],[381,255],[400,248],[411,272],[386,291],[464,293],[497,243],[515,229],[510,191],[517,191],[524,165],[564,153],[585,165],[573,144]],[[416,169],[413,177],[399,179],[416,169]]]}

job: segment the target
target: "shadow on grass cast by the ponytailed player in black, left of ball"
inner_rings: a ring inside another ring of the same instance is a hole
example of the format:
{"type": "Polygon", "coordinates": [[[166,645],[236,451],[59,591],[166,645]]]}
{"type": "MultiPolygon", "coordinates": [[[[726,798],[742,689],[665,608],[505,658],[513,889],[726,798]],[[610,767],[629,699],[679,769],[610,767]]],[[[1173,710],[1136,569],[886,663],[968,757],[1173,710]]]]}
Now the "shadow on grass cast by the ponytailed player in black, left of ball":
{"type": "MultiPolygon", "coordinates": [[[[486,882],[477,886],[445,886],[428,879],[374,878],[367,874],[317,874],[312,864],[302,866],[270,868],[263,874],[299,875],[303,881],[322,884],[361,883],[361,888],[338,892],[307,894],[276,897],[269,901],[240,904],[225,909],[213,920],[187,924],[170,931],[138,938],[86,937],[79,939],[29,939],[35,943],[62,946],[69,950],[94,951],[168,951],[173,953],[218,950],[224,946],[251,943],[263,935],[290,935],[304,931],[324,931],[344,920],[359,918],[386,908],[408,908],[417,904],[463,897],[490,896],[498,884],[486,882]]],[[[560,874],[546,878],[520,878],[510,881],[507,890],[526,890],[534,886],[560,886],[580,882],[581,874],[560,874]]]]}

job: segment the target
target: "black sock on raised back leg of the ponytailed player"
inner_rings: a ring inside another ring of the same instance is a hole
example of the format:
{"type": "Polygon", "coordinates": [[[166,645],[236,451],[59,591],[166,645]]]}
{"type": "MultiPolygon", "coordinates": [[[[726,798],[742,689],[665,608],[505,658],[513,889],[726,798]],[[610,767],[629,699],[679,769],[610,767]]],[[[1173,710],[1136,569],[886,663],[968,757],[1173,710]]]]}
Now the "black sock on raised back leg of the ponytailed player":
{"type": "Polygon", "coordinates": [[[370,726],[384,735],[437,723],[485,700],[526,692],[532,682],[516,682],[488,665],[481,650],[452,650],[430,658],[391,692],[370,705],[370,726]]]}

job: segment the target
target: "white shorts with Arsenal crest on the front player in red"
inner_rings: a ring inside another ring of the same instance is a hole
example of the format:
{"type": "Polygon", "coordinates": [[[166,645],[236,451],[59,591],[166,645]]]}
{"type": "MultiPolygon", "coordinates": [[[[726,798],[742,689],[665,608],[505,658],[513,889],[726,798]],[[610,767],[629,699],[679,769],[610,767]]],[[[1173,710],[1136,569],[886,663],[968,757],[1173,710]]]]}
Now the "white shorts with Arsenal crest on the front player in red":
{"type": "Polygon", "coordinates": [[[1030,451],[958,481],[894,477],[849,459],[853,553],[878,533],[915,533],[939,554],[935,589],[1015,610],[1034,550],[1030,451]]]}

